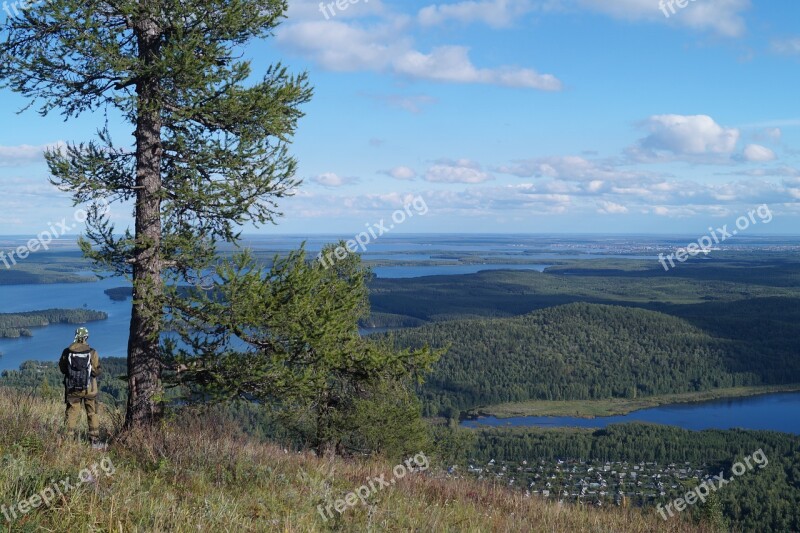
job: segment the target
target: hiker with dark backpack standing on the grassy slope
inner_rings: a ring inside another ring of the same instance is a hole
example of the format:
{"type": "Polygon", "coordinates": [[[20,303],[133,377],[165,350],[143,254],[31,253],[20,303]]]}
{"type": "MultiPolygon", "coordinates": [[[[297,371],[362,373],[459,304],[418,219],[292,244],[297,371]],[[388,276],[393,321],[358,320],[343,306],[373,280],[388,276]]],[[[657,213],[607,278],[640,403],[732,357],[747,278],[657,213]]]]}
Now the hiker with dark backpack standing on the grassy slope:
{"type": "Polygon", "coordinates": [[[102,447],[100,443],[100,416],[97,413],[97,377],[100,375],[100,357],[87,344],[89,330],[78,328],[75,342],[70,344],[58,361],[58,368],[64,374],[64,398],[67,403],[66,432],[74,434],[81,405],[86,409],[89,422],[89,439],[93,448],[102,447]]]}

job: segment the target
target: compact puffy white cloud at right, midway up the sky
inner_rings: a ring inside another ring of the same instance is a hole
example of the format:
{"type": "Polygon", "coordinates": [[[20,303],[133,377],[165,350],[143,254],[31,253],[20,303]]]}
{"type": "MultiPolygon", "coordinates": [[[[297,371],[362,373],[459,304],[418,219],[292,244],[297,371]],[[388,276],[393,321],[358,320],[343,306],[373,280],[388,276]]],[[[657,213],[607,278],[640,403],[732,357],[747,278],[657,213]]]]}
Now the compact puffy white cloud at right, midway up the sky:
{"type": "Polygon", "coordinates": [[[641,125],[650,135],[628,149],[638,161],[718,162],[733,154],[741,135],[738,129],[722,127],[708,115],[653,115],[641,125]]]}

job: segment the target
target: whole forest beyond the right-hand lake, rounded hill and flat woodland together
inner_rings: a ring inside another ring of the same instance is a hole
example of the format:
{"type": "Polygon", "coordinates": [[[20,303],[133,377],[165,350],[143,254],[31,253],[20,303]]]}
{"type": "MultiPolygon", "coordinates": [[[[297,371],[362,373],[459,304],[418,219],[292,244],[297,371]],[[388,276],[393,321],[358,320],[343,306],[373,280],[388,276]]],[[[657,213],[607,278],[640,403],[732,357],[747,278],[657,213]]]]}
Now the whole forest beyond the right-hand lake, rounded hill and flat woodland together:
{"type": "Polygon", "coordinates": [[[427,415],[800,382],[796,258],[719,254],[670,272],[629,259],[561,263],[372,281],[371,326],[423,321],[394,342],[449,347],[420,389],[427,415]]]}

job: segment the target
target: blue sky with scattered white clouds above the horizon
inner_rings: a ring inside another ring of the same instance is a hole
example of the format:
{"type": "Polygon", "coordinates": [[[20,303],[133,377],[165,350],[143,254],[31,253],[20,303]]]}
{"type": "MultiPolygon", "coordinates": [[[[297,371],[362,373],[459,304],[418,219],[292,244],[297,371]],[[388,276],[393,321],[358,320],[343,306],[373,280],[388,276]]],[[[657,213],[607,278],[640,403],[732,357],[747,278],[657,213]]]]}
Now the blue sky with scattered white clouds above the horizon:
{"type": "MultiPolygon", "coordinates": [[[[800,235],[796,0],[289,4],[246,54],[256,74],[309,74],[291,145],[303,183],[277,225],[246,233],[394,216],[402,233],[703,235],[767,206],[748,232],[800,235]]],[[[42,152],[105,117],[24,105],[0,91],[0,234],[77,232],[42,152]]],[[[111,128],[118,144],[132,131],[111,128]]],[[[130,212],[109,211],[120,229],[130,212]]]]}

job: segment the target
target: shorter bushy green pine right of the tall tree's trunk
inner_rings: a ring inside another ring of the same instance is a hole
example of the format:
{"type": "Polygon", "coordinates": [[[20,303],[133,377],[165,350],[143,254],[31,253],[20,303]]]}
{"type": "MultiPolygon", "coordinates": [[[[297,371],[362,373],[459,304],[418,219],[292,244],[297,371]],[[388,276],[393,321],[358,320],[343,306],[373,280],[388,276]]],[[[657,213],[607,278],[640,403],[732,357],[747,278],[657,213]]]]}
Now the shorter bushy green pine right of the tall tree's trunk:
{"type": "Polygon", "coordinates": [[[409,385],[442,351],[363,338],[368,277],[355,254],[333,266],[302,249],[269,269],[247,253],[220,263],[214,290],[191,291],[175,317],[183,342],[170,360],[181,371],[168,381],[187,400],[268,406],[320,454],[412,451],[425,428],[409,385]]]}

